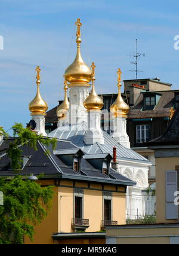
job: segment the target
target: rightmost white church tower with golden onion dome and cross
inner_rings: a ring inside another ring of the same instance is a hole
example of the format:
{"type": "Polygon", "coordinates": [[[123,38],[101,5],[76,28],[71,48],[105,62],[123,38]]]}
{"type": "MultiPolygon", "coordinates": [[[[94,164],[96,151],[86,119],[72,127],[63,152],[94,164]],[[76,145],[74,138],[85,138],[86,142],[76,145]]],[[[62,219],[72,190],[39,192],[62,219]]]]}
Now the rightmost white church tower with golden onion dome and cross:
{"type": "Polygon", "coordinates": [[[113,115],[114,132],[112,137],[126,148],[130,148],[129,136],[126,133],[126,117],[129,112],[129,106],[124,102],[121,96],[121,69],[118,69],[118,97],[110,106],[113,115]]]}

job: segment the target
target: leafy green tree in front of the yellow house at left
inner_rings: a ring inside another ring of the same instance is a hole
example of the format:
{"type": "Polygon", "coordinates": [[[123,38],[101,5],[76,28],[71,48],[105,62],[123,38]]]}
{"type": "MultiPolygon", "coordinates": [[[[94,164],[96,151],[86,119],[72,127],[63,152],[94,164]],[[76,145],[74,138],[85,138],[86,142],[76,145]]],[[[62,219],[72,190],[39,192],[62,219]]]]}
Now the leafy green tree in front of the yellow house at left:
{"type": "MultiPolygon", "coordinates": [[[[36,135],[30,128],[16,123],[13,127],[16,139],[6,149],[11,158],[14,178],[0,178],[0,191],[4,193],[4,205],[0,205],[0,243],[23,243],[26,234],[33,240],[34,225],[47,217],[53,199],[53,186],[42,188],[37,182],[23,179],[21,170],[22,150],[20,145],[27,145],[37,150],[37,142],[55,149],[56,140],[36,135]],[[18,172],[18,175],[16,174],[18,172]]],[[[8,139],[7,133],[0,128],[0,133],[8,139]]],[[[48,154],[48,151],[46,151],[48,154]]],[[[1,161],[1,159],[0,159],[1,161]]],[[[41,177],[39,177],[41,178],[41,177]]]]}

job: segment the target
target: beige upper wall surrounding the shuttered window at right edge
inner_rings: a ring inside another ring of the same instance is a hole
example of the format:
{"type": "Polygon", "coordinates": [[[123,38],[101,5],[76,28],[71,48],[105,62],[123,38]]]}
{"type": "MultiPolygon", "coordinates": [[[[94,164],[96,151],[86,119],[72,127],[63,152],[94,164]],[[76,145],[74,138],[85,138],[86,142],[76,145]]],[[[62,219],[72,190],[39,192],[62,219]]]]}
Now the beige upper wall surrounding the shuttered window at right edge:
{"type": "Polygon", "coordinates": [[[156,158],[156,222],[178,223],[179,220],[166,220],[165,218],[165,172],[175,170],[178,157],[156,158]]]}

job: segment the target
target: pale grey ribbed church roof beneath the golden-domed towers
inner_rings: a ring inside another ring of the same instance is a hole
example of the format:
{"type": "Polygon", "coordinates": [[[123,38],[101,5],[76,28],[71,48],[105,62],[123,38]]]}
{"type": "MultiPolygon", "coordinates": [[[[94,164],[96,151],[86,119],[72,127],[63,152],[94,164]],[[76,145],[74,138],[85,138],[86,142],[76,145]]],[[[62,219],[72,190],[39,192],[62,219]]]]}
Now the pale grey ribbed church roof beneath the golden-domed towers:
{"type": "Polygon", "coordinates": [[[141,161],[141,162],[148,162],[145,157],[141,156],[140,154],[136,153],[135,151],[125,148],[121,144],[115,141],[108,133],[103,132],[104,136],[104,145],[99,144],[96,142],[93,145],[86,145],[84,142],[84,135],[85,131],[87,130],[87,125],[85,122],[76,126],[66,126],[63,129],[55,129],[53,132],[48,133],[48,137],[51,138],[58,138],[58,139],[66,139],[71,141],[77,147],[81,148],[86,154],[101,154],[101,153],[109,153],[113,156],[113,147],[117,148],[117,157],[118,159],[122,160],[131,160],[131,161],[141,161]]]}

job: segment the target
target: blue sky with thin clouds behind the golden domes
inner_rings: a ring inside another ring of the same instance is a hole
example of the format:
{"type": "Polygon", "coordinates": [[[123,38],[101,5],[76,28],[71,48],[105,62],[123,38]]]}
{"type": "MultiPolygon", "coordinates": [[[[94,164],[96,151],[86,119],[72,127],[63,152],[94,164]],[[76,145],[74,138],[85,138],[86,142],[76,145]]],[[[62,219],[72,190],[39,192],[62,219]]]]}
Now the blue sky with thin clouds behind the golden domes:
{"type": "Polygon", "coordinates": [[[30,120],[29,102],[36,93],[35,68],[41,66],[41,94],[49,109],[63,99],[63,73],[76,54],[77,18],[81,18],[82,56],[96,65],[98,93],[116,93],[116,71],[135,78],[129,54],[145,53],[139,60],[139,78],[160,77],[179,89],[179,1],[124,0],[0,0],[1,123],[30,120]]]}

